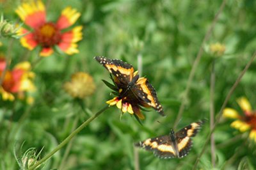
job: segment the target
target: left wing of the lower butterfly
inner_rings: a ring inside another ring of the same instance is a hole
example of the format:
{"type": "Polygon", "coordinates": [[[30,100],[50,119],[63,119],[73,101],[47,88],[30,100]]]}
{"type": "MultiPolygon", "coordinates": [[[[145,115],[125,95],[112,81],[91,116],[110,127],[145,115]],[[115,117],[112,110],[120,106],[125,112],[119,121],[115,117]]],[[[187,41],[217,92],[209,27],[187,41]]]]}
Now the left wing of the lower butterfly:
{"type": "Polygon", "coordinates": [[[154,152],[154,155],[159,158],[176,157],[170,137],[168,135],[150,138],[136,143],[135,146],[145,148],[145,150],[151,150],[154,152]]]}

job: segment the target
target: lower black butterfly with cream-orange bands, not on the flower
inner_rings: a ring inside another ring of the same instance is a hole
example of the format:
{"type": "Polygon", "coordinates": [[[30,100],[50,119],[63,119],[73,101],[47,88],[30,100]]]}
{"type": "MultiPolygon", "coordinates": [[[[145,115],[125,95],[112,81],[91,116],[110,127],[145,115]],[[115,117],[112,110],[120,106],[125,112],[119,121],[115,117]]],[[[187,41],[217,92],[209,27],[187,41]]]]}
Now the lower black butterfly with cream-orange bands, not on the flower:
{"type": "Polygon", "coordinates": [[[172,129],[169,135],[162,135],[136,143],[135,146],[154,152],[159,158],[182,158],[188,155],[192,147],[192,139],[204,124],[205,120],[191,123],[175,133],[172,129]]]}

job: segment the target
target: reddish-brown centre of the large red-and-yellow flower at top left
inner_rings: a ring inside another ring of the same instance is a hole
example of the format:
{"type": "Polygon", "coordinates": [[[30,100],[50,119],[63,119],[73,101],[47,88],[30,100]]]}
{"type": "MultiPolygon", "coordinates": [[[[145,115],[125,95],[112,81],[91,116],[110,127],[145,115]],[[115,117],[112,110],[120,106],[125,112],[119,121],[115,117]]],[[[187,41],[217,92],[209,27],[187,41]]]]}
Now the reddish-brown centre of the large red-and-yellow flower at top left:
{"type": "Polygon", "coordinates": [[[54,23],[47,22],[35,29],[34,38],[42,47],[52,47],[60,43],[61,32],[54,23]]]}

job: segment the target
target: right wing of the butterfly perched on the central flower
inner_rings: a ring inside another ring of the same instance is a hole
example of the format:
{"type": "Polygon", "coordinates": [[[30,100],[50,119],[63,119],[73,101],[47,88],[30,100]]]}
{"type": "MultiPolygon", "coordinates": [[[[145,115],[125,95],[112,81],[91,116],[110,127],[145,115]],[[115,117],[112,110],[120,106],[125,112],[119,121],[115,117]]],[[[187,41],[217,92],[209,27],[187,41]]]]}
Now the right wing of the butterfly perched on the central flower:
{"type": "Polygon", "coordinates": [[[159,112],[159,114],[164,116],[163,107],[157,98],[156,90],[152,84],[148,82],[148,79],[141,77],[136,82],[136,86],[134,88],[135,95],[140,98],[145,105],[153,107],[157,112],[159,112]]]}

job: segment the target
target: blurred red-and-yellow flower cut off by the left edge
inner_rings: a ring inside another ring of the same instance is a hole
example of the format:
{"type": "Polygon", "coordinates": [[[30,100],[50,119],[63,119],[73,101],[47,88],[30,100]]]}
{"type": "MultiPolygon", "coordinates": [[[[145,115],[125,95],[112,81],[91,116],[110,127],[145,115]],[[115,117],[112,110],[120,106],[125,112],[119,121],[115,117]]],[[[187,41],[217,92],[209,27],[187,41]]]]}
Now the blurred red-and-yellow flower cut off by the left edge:
{"type": "MultiPolygon", "coordinates": [[[[15,65],[13,70],[5,70],[6,61],[0,58],[0,77],[4,73],[3,81],[0,86],[0,93],[3,100],[13,101],[15,96],[24,98],[25,92],[35,91],[35,86],[32,79],[35,73],[30,72],[31,65],[29,62],[24,61],[15,65]]],[[[27,98],[31,102],[31,98],[27,98]]]]}

